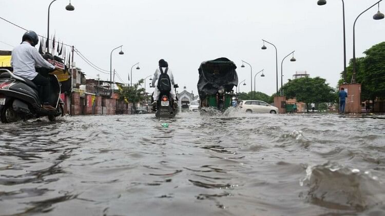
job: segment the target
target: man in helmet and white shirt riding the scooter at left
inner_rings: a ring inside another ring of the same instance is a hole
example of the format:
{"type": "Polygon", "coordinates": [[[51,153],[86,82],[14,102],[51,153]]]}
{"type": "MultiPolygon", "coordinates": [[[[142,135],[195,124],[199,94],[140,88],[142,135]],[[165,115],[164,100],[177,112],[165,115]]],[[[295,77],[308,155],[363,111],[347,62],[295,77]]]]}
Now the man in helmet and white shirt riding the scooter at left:
{"type": "Polygon", "coordinates": [[[34,48],[37,43],[38,37],[34,31],[24,33],[22,43],[12,50],[11,66],[13,67],[13,74],[27,78],[37,86],[42,86],[42,95],[39,95],[43,102],[42,108],[56,110],[49,104],[49,93],[51,92],[49,78],[35,71],[35,67],[48,69],[55,69],[56,67],[44,60],[42,55],[34,48]]]}

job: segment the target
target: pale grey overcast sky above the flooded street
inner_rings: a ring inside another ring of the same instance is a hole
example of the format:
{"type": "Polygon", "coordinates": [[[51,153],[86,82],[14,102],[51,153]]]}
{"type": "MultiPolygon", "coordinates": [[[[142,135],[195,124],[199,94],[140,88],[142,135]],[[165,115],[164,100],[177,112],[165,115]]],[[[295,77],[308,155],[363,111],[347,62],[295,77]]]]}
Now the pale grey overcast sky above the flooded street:
{"type": "MultiPolygon", "coordinates": [[[[38,34],[47,34],[47,10],[51,0],[0,0],[0,16],[38,34]]],[[[357,15],[377,0],[345,1],[347,61],[353,53],[353,22],[357,15]]],[[[262,69],[265,77],[257,76],[257,91],[271,95],[276,89],[276,60],[273,46],[278,49],[278,73],[282,58],[295,50],[297,62],[287,57],[283,62],[283,83],[296,71],[307,71],[311,77],[326,78],[335,87],[343,70],[342,3],[328,0],[318,6],[317,0],[72,0],[74,11],[66,11],[68,0],[57,0],[50,9],[50,34],[66,44],[74,45],[92,63],[112,69],[124,82],[133,64],[133,81],[152,74],[158,60],[164,58],[181,91],[197,93],[198,67],[201,62],[227,57],[237,65],[239,81],[246,79],[241,91],[250,91],[250,68],[241,68],[241,60],[253,67],[254,74],[262,69]]],[[[385,2],[380,5],[385,12],[385,2]]],[[[385,19],[372,17],[377,7],[364,13],[356,24],[356,55],[384,41],[385,19]]],[[[12,50],[20,44],[25,32],[0,20],[0,50],[12,50]],[[9,45],[7,45],[9,44],[9,45]]],[[[37,47],[37,46],[36,46],[37,47]]],[[[68,50],[67,50],[68,51],[68,50]]],[[[88,66],[75,55],[76,66],[87,78],[109,79],[88,66]]],[[[117,79],[116,81],[120,81],[117,79]]],[[[254,82],[254,81],[253,81],[254,82]]],[[[147,85],[149,81],[147,80],[147,85]]],[[[254,88],[254,85],[253,85],[254,88]]]]}

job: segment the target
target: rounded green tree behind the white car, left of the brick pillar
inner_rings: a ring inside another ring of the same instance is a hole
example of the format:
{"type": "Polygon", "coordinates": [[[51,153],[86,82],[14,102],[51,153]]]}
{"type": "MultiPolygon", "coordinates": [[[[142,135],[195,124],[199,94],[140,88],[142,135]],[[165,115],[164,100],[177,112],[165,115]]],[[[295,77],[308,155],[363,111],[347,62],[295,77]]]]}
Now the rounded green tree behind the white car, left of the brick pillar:
{"type": "Polygon", "coordinates": [[[327,103],[336,100],[335,90],[326,83],[324,78],[302,77],[289,80],[283,87],[286,99],[296,99],[298,102],[327,103]]]}

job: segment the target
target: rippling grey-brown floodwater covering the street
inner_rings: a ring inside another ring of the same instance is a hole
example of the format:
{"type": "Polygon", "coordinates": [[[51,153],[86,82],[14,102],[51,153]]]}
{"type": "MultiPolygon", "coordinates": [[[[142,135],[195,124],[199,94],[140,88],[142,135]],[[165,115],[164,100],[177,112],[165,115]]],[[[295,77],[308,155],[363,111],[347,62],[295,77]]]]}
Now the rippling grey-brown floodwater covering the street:
{"type": "Polygon", "coordinates": [[[384,144],[376,115],[1,124],[0,215],[385,215],[384,144]]]}

